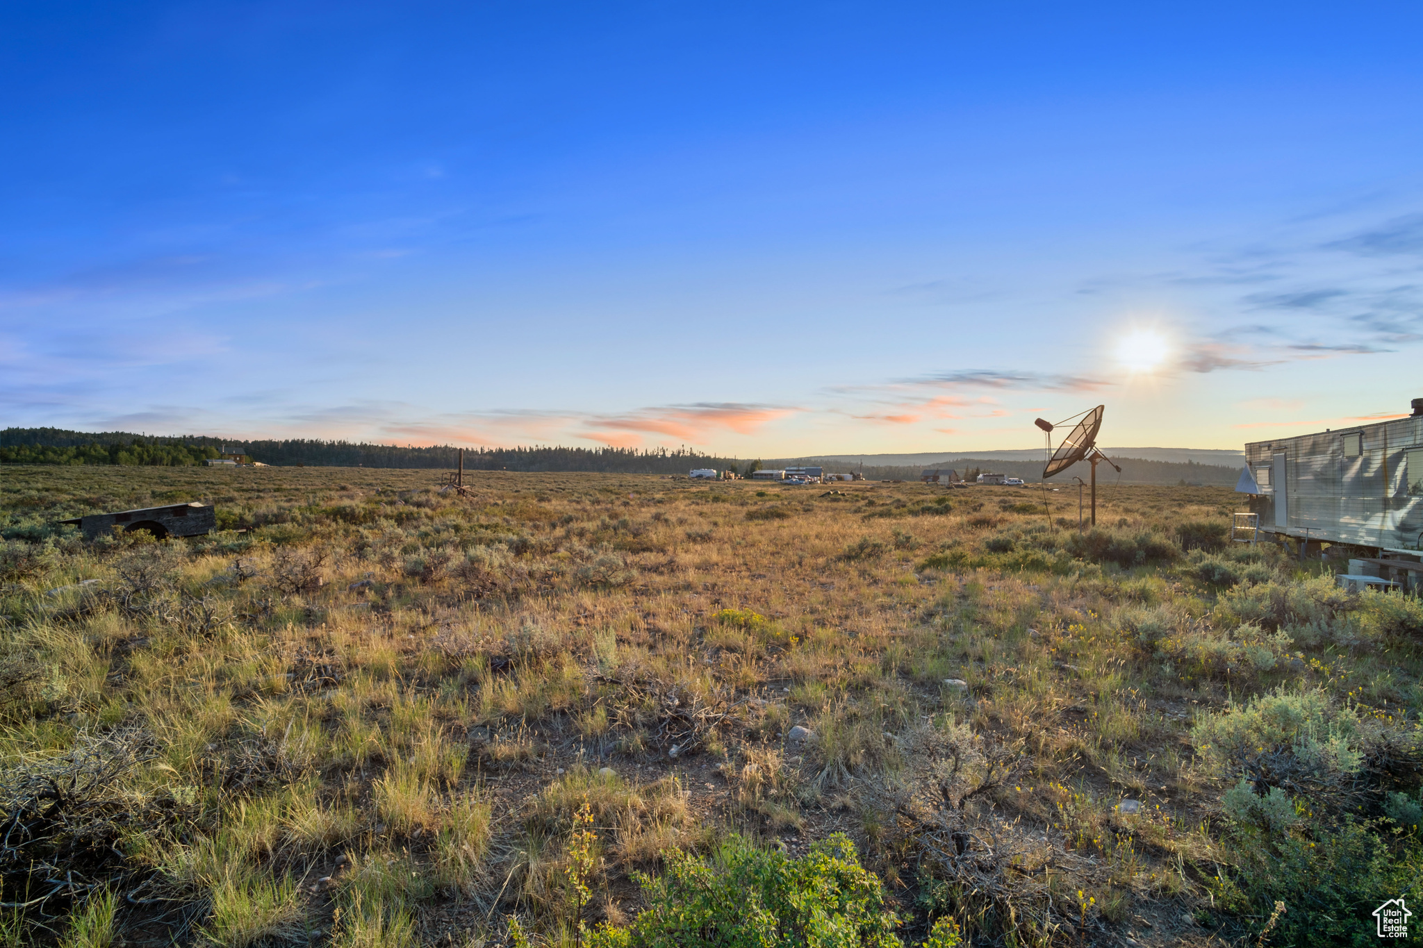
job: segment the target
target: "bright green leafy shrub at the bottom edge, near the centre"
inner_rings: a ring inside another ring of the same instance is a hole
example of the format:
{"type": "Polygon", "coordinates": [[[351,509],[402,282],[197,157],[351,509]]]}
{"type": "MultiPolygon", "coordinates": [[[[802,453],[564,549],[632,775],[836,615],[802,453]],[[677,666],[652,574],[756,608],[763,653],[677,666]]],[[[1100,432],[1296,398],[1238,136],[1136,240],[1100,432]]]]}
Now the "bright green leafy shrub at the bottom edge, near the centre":
{"type": "MultiPolygon", "coordinates": [[[[638,874],[649,908],[632,925],[605,925],[589,948],[898,948],[898,917],[879,880],[859,866],[844,834],[801,858],[733,836],[710,860],[667,851],[662,877],[638,874]]],[[[952,922],[935,948],[959,944],[952,922]]]]}

